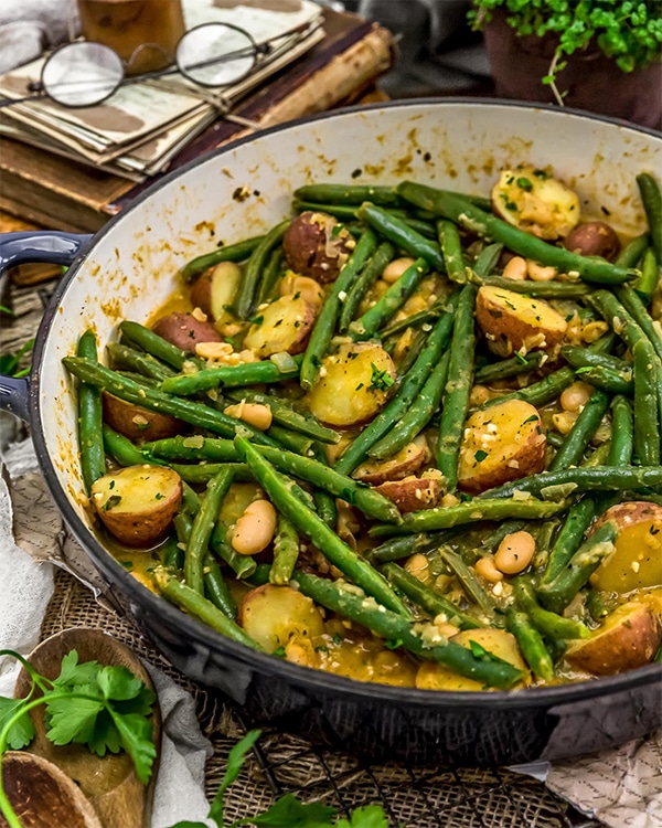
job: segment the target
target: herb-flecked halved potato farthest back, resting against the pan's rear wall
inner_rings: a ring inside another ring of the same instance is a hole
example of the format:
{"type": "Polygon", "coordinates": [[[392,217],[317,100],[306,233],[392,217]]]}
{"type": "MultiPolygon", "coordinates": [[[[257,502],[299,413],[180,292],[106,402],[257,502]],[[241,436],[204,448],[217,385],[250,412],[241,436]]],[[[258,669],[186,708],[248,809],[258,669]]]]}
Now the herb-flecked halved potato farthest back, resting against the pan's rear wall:
{"type": "Polygon", "coordinates": [[[492,188],[501,219],[538,238],[563,238],[579,222],[577,194],[544,170],[520,164],[503,170],[492,188]]]}

